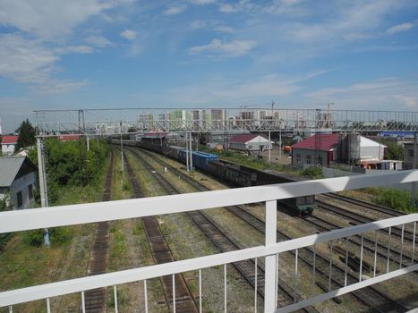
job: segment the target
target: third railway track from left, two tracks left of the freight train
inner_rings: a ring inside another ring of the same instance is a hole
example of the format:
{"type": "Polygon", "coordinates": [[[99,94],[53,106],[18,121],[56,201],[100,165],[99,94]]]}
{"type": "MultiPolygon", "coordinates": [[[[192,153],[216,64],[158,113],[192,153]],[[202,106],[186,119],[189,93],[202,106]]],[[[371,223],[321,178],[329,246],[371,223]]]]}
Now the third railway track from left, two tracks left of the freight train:
{"type": "MultiPolygon", "coordinates": [[[[155,171],[155,168],[149,164],[149,162],[141,156],[141,154],[132,148],[128,148],[136,157],[141,159],[141,163],[145,165],[147,170],[153,172],[154,177],[160,183],[160,185],[166,190],[168,194],[179,194],[180,191],[177,190],[173,184],[168,182],[165,177],[155,171]]],[[[141,150],[142,151],[142,150],[141,150]]],[[[226,233],[222,232],[218,226],[212,221],[209,216],[204,214],[201,211],[191,211],[186,213],[193,221],[194,224],[200,228],[202,233],[209,238],[209,240],[222,252],[240,250],[243,249],[238,243],[236,243],[232,238],[230,238],[226,233]]],[[[255,288],[255,262],[253,260],[244,260],[240,262],[235,262],[232,264],[235,269],[243,276],[245,281],[249,283],[252,288],[255,288]]],[[[287,285],[282,280],[279,280],[278,283],[278,303],[281,306],[286,306],[294,302],[294,297],[297,300],[302,298],[294,292],[294,290],[287,285]]],[[[264,268],[260,265],[260,262],[257,264],[257,292],[261,297],[264,297],[264,268]]],[[[318,312],[314,308],[302,309],[303,312],[318,312]]]]}

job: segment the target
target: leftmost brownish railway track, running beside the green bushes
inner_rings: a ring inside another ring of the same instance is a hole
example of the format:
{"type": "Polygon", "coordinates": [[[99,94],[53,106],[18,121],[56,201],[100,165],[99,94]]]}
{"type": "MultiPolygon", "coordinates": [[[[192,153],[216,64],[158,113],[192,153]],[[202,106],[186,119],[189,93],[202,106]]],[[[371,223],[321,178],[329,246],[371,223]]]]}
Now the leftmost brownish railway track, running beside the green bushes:
{"type": "MultiPolygon", "coordinates": [[[[105,190],[102,201],[110,201],[112,196],[112,179],[115,167],[115,155],[110,150],[110,163],[107,168],[105,190]]],[[[96,224],[93,246],[90,251],[90,262],[87,270],[88,275],[99,275],[107,272],[108,251],[109,251],[109,224],[100,222],[96,224]]],[[[86,312],[102,313],[107,309],[107,288],[92,289],[84,293],[86,312]]]]}

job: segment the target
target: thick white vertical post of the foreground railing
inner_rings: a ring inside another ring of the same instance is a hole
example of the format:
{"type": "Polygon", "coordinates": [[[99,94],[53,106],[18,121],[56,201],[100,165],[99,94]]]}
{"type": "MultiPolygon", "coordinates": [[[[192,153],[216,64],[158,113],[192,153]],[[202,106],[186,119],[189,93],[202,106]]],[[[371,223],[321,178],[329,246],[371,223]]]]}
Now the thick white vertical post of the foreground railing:
{"type": "MultiPolygon", "coordinates": [[[[266,246],[276,244],[277,238],[277,202],[266,202],[266,246]]],[[[276,309],[276,254],[267,256],[265,261],[264,312],[276,309]]]]}

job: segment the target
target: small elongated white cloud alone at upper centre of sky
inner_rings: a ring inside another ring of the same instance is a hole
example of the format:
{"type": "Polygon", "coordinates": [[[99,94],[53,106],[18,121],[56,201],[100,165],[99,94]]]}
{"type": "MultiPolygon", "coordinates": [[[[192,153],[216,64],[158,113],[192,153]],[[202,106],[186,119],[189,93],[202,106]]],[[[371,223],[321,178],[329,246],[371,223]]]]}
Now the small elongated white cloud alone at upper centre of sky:
{"type": "Polygon", "coordinates": [[[220,39],[212,39],[208,45],[191,47],[189,52],[191,55],[208,53],[209,55],[217,55],[220,57],[236,57],[246,55],[255,46],[256,43],[251,40],[223,42],[220,39]]]}

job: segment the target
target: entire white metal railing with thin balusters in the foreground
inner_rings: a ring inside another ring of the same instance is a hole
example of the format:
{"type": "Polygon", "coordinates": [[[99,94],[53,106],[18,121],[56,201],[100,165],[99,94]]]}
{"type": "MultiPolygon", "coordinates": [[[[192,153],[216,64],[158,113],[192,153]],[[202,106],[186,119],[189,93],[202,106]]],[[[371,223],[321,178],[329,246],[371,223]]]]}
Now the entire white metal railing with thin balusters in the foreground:
{"type": "MultiPolygon", "coordinates": [[[[345,283],[344,287],[338,288],[336,290],[331,290],[329,284],[328,292],[322,293],[320,295],[315,295],[315,293],[312,292],[312,296],[310,299],[301,300],[299,302],[287,306],[286,308],[280,309],[277,309],[278,254],[292,250],[294,250],[297,253],[298,250],[305,247],[315,247],[315,245],[317,244],[328,241],[332,243],[332,241],[335,241],[337,239],[348,238],[357,234],[376,232],[380,229],[393,227],[397,225],[402,225],[402,229],[404,229],[405,224],[413,224],[414,232],[416,232],[416,222],[418,221],[418,214],[398,216],[387,220],[380,220],[369,224],[361,224],[328,233],[320,233],[277,243],[276,200],[286,199],[295,196],[326,193],[331,191],[353,190],[368,186],[382,186],[395,183],[414,182],[417,180],[418,171],[404,171],[397,173],[375,174],[369,176],[339,177],[309,182],[292,182],[233,190],[196,192],[155,198],[129,199],[102,203],[72,205],[63,207],[46,207],[38,209],[3,212],[0,213],[0,233],[18,232],[52,226],[94,223],[142,216],[156,216],[163,214],[187,212],[196,209],[207,209],[211,207],[227,207],[254,202],[266,202],[266,232],[265,245],[259,247],[235,250],[231,252],[219,253],[216,255],[210,255],[200,258],[190,258],[182,261],[175,261],[173,263],[168,264],[144,266],[114,273],[107,273],[103,275],[86,276],[57,283],[46,283],[28,288],[21,288],[13,291],[0,292],[0,307],[10,306],[12,310],[12,306],[14,304],[27,302],[31,300],[46,299],[47,310],[49,311],[50,298],[73,292],[81,292],[81,300],[84,300],[85,291],[107,286],[114,286],[114,291],[116,291],[116,285],[118,284],[131,283],[137,281],[144,282],[145,296],[147,296],[146,282],[150,278],[156,278],[164,275],[175,275],[177,273],[189,272],[193,270],[199,270],[199,277],[201,277],[200,270],[202,268],[224,265],[224,268],[226,269],[225,265],[229,263],[252,258],[265,258],[265,312],[290,312],[294,309],[301,309],[303,307],[318,303],[322,300],[328,300],[338,295],[342,295],[347,292],[353,292],[360,288],[369,286],[373,283],[380,283],[382,281],[397,277],[399,275],[404,275],[405,273],[418,270],[418,264],[414,264],[415,241],[413,242],[413,258],[410,266],[402,267],[401,262],[401,266],[399,266],[397,270],[391,272],[387,270],[387,273],[382,275],[374,274],[373,277],[365,280],[362,279],[362,275],[360,273],[358,283],[353,283],[350,285],[346,285],[345,283]]],[[[389,250],[390,243],[388,243],[388,252],[389,250]]],[[[332,258],[329,259],[329,266],[329,268],[331,268],[332,258]]],[[[360,266],[360,268],[362,268],[362,266],[360,266]]],[[[313,291],[315,283],[314,266],[312,273],[313,291]]],[[[331,278],[329,278],[329,281],[331,281],[331,278]]],[[[297,258],[295,258],[294,282],[297,283],[297,258]]],[[[255,283],[255,285],[257,285],[257,283],[255,283]]],[[[199,286],[201,311],[201,280],[199,282],[199,286]]],[[[175,295],[173,296],[173,298],[175,300],[175,295]]],[[[148,309],[147,299],[145,299],[144,301],[146,309],[148,309]]],[[[82,301],[82,303],[83,302],[84,301],[82,301]]],[[[115,309],[117,311],[116,292],[115,309]]],[[[257,309],[257,306],[255,306],[255,309],[257,309]]]]}

